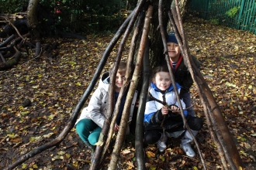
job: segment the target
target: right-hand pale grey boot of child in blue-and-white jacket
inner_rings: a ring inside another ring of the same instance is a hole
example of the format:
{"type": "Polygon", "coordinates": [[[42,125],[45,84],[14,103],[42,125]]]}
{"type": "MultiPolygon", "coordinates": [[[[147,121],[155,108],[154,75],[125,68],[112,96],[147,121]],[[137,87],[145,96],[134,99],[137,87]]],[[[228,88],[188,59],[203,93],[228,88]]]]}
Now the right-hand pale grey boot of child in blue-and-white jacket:
{"type": "MultiPolygon", "coordinates": [[[[192,133],[195,136],[198,133],[198,131],[192,131],[192,133]]],[[[189,134],[189,131],[185,131],[185,134],[182,138],[181,148],[183,149],[183,151],[185,151],[185,155],[193,158],[195,157],[195,151],[193,151],[189,144],[189,142],[191,141],[193,141],[191,134],[189,134]]]]}

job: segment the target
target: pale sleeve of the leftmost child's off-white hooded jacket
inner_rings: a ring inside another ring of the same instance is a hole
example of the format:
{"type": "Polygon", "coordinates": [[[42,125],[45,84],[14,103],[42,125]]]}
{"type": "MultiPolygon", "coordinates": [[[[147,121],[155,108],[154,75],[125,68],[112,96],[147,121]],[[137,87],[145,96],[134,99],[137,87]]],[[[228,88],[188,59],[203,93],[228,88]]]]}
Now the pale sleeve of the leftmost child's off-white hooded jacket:
{"type": "Polygon", "coordinates": [[[92,121],[95,122],[95,124],[98,124],[100,128],[103,127],[105,117],[104,113],[101,113],[101,107],[102,107],[102,98],[103,93],[101,91],[101,88],[98,87],[95,92],[92,94],[91,100],[88,104],[87,111],[90,114],[90,117],[92,121]]]}

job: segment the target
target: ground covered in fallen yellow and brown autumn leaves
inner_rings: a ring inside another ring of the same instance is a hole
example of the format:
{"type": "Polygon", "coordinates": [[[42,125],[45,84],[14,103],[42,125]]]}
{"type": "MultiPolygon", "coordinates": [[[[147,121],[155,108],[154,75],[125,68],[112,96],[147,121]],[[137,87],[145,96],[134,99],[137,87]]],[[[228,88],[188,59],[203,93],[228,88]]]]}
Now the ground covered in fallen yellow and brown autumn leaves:
{"type": "MultiPolygon", "coordinates": [[[[251,166],[248,169],[255,169],[256,36],[195,18],[185,22],[184,27],[191,53],[202,63],[201,72],[234,136],[240,158],[251,166]]],[[[61,53],[52,63],[46,57],[28,57],[15,68],[0,72],[0,169],[63,131],[110,39],[112,36],[99,35],[88,35],[85,41],[45,39],[61,44],[61,53]],[[26,99],[32,104],[22,107],[26,99]]],[[[109,69],[117,49],[110,54],[103,71],[109,69]]],[[[128,50],[126,46],[124,57],[128,50]]],[[[191,93],[196,114],[205,120],[197,140],[207,168],[223,169],[195,87],[191,93]]],[[[147,169],[202,169],[198,151],[195,158],[185,156],[178,139],[169,139],[164,153],[159,153],[155,145],[144,149],[147,169]]],[[[107,168],[109,158],[103,167],[107,168]]],[[[73,128],[58,148],[43,151],[16,169],[88,169],[89,166],[90,151],[73,128]]],[[[123,145],[118,169],[137,169],[133,135],[123,145]]]]}

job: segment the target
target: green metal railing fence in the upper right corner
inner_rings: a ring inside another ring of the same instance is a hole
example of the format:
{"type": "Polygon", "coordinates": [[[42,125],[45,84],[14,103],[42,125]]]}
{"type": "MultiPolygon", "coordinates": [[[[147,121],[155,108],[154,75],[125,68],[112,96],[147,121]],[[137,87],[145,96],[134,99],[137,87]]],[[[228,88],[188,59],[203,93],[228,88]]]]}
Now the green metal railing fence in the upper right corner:
{"type": "Polygon", "coordinates": [[[255,0],[197,0],[192,1],[190,12],[214,24],[256,34],[255,0]]]}

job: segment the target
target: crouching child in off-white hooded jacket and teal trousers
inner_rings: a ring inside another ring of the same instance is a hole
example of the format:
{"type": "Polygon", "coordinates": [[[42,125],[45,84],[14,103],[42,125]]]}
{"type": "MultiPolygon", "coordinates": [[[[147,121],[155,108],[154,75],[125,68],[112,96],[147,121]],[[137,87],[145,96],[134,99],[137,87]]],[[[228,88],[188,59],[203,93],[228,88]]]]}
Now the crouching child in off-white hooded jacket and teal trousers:
{"type": "MultiPolygon", "coordinates": [[[[109,98],[109,72],[103,73],[99,81],[99,87],[92,94],[88,107],[85,107],[78,121],[76,122],[76,131],[85,145],[92,151],[95,148],[94,145],[99,139],[99,134],[102,131],[102,127],[105,121],[105,115],[107,110],[108,98],[109,98]]],[[[119,69],[116,73],[115,84],[115,104],[119,95],[121,87],[123,87],[123,80],[126,75],[126,63],[120,62],[119,69]]],[[[137,99],[137,91],[133,96],[133,102],[130,107],[130,120],[133,117],[133,108],[137,99]]],[[[119,123],[123,113],[123,106],[126,100],[126,95],[123,96],[119,113],[116,118],[115,131],[119,129],[119,123]]]]}

